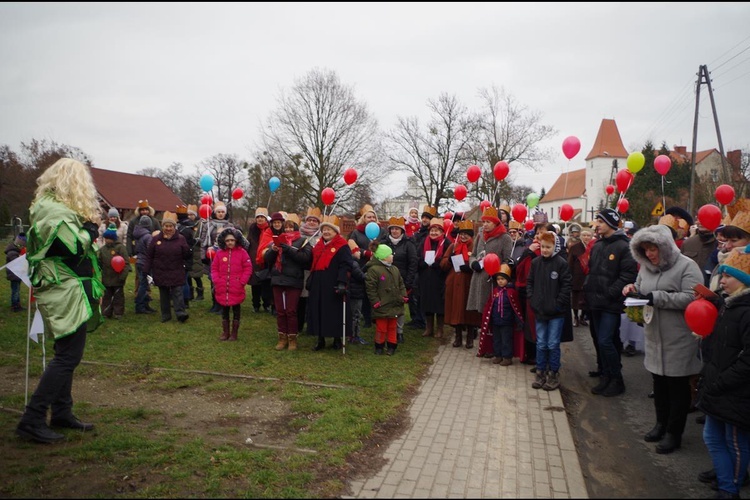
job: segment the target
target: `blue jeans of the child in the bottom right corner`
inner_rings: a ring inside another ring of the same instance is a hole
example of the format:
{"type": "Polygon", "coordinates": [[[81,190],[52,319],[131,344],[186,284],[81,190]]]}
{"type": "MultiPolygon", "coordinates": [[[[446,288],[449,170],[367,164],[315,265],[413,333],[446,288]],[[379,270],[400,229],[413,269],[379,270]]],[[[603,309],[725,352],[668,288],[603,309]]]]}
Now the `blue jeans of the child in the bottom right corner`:
{"type": "Polygon", "coordinates": [[[714,463],[719,489],[739,493],[750,464],[750,433],[706,415],[703,442],[714,463]]]}

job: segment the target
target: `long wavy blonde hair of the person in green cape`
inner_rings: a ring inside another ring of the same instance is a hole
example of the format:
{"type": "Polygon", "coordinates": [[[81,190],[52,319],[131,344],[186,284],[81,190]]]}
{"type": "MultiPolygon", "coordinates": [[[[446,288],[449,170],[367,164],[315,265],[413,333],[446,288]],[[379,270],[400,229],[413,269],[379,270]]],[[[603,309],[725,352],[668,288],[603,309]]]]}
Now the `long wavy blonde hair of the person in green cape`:
{"type": "Polygon", "coordinates": [[[101,207],[89,168],[71,158],[60,158],[36,180],[34,201],[49,194],[85,220],[101,222],[101,207]]]}

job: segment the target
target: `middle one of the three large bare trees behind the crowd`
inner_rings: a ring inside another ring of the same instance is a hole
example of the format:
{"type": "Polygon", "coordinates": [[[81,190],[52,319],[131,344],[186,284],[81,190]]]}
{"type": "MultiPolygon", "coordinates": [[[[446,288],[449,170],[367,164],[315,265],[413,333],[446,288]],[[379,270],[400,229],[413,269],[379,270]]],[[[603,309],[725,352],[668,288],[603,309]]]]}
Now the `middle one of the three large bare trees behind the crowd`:
{"type": "Polygon", "coordinates": [[[430,205],[440,207],[442,200],[453,196],[453,186],[462,182],[478,123],[455,96],[443,93],[429,99],[427,107],[431,118],[424,130],[416,117],[398,117],[387,134],[387,154],[398,170],[416,178],[430,205]]]}

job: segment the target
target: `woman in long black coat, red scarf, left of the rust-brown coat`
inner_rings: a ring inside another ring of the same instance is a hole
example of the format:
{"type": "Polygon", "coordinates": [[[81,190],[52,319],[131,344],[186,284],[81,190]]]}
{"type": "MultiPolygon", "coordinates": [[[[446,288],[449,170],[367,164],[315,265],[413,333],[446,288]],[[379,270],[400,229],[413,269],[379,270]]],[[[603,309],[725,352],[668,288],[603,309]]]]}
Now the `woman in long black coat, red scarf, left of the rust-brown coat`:
{"type": "Polygon", "coordinates": [[[443,315],[445,314],[445,278],[447,273],[440,268],[440,260],[445,255],[450,246],[450,242],[445,237],[443,229],[443,219],[433,217],[430,221],[430,230],[428,236],[417,248],[419,251],[418,269],[418,287],[419,287],[419,306],[424,314],[426,328],[423,337],[436,338],[443,336],[443,315]],[[429,264],[425,260],[428,252],[434,252],[434,260],[429,264]],[[433,321],[433,318],[435,321],[433,321]],[[433,323],[437,323],[437,327],[433,323]]]}

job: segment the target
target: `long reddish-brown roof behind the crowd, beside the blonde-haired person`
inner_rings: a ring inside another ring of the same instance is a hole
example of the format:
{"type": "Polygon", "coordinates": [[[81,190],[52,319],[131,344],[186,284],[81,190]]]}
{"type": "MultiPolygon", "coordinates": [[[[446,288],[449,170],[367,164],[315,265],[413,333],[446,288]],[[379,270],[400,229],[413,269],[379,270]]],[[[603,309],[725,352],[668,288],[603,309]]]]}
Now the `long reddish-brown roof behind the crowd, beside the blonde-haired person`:
{"type": "Polygon", "coordinates": [[[148,200],[148,204],[157,212],[174,211],[177,205],[184,204],[158,177],[93,167],[91,176],[99,196],[107,205],[118,210],[134,210],[138,200],[148,200]]]}

